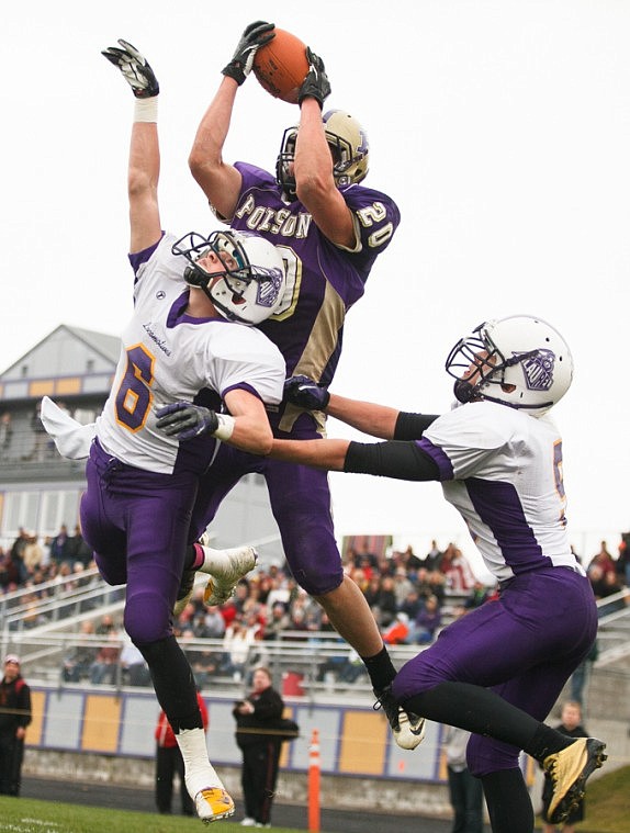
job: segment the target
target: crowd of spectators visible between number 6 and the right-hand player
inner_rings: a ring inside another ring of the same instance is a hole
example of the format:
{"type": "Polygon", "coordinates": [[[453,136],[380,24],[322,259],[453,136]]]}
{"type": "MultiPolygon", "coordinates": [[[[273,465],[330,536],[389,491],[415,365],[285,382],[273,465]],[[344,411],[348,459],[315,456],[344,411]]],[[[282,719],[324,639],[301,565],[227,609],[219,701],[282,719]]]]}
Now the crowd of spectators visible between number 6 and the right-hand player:
{"type": "MultiPolygon", "coordinates": [[[[430,643],[446,623],[445,612],[460,615],[468,594],[479,585],[461,551],[449,544],[440,552],[435,541],[426,558],[418,558],[410,547],[376,554],[365,543],[348,550],[345,570],[365,595],[387,644],[430,643]],[[457,606],[448,604],[453,598],[457,606]]],[[[199,588],[176,627],[182,644],[206,637],[222,640],[221,650],[189,651],[202,686],[214,674],[240,680],[252,654],[258,661],[265,658],[267,640],[316,641],[328,632],[328,644],[334,644],[336,635],[324,610],[280,564],[252,572],[218,608],[206,608],[203,587],[199,588]]],[[[317,679],[333,674],[352,683],[363,671],[359,657],[346,653],[323,662],[317,679]]]]}

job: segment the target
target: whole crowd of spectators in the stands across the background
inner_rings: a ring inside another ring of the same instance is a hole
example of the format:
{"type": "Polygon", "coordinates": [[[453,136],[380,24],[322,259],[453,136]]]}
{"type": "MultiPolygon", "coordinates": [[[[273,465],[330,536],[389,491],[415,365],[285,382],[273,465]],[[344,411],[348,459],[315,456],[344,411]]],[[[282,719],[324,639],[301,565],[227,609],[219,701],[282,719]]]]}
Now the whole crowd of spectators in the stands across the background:
{"type": "MultiPolygon", "coordinates": [[[[597,598],[606,598],[629,586],[630,561],[626,538],[616,559],[606,541],[585,564],[597,598]]],[[[461,550],[449,543],[440,550],[436,541],[427,553],[417,555],[412,547],[404,551],[372,552],[368,539],[349,548],[344,556],[345,570],[364,594],[389,645],[426,645],[454,617],[484,604],[496,587],[479,581],[461,550]]],[[[29,588],[22,605],[31,607],[24,627],[42,623],[38,606],[43,597],[59,587],[72,589],[81,584],[81,573],[93,566],[92,554],[79,527],[70,533],[61,526],[58,533],[40,541],[30,530],[20,530],[12,547],[0,551],[0,590],[29,588]],[[50,584],[52,582],[52,584],[50,584]],[[46,585],[42,589],[40,585],[46,585]]],[[[90,579],[93,581],[93,579],[90,579]]],[[[627,604],[630,594],[620,604],[627,604]]],[[[239,682],[252,657],[265,658],[263,643],[269,640],[311,640],[335,632],[324,610],[299,587],[285,565],[272,563],[257,567],[236,587],[232,599],[221,607],[206,607],[203,585],[198,586],[190,603],[175,622],[177,635],[188,649],[191,665],[203,686],[214,675],[239,682]],[[221,642],[214,650],[200,649],[199,640],[221,642]]],[[[339,643],[344,644],[341,640],[339,643]]],[[[148,685],[142,655],[111,617],[100,624],[86,621],[79,640],[65,657],[66,682],[148,685]],[[108,638],[95,646],[94,637],[108,638]]],[[[363,673],[357,656],[334,657],[323,662],[318,679],[353,682],[363,673]],[[328,675],[328,676],[327,676],[328,675]]]]}

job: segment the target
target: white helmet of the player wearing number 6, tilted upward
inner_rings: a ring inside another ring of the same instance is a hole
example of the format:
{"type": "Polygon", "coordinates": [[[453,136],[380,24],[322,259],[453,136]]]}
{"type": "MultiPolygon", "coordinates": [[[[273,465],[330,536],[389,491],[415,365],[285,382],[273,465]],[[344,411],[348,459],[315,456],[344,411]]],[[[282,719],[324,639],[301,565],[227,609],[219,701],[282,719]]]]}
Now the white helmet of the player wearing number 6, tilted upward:
{"type": "Polygon", "coordinates": [[[204,237],[189,232],[172,245],[172,254],[189,261],[184,281],[202,289],[224,318],[260,324],[280,306],[286,284],[284,261],[279,249],[260,235],[229,229],[204,237]],[[209,249],[224,264],[224,271],[206,272],[199,264],[209,249]],[[226,255],[230,262],[226,262],[226,255]]]}

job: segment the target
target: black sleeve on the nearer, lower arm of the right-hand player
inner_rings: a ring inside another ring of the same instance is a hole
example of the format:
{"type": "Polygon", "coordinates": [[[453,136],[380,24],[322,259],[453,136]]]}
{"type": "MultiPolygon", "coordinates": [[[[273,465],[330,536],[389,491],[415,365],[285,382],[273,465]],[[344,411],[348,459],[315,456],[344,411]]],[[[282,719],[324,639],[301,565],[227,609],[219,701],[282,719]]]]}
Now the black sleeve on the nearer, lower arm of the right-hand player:
{"type": "Polygon", "coordinates": [[[350,442],[345,472],[378,474],[396,480],[439,480],[437,464],[416,442],[350,442]]]}

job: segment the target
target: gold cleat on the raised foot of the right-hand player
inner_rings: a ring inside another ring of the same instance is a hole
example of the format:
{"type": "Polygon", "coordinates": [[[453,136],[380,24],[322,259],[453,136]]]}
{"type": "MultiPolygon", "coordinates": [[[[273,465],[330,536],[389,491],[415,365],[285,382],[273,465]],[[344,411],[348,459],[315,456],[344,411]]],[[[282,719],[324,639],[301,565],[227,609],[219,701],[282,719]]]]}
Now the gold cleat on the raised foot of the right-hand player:
{"type": "Polygon", "coordinates": [[[607,758],[605,748],[606,744],[597,738],[578,738],[570,746],[544,758],[542,768],[553,785],[547,811],[551,824],[561,824],[584,798],[586,779],[607,758]]]}

